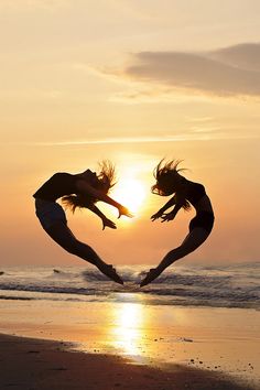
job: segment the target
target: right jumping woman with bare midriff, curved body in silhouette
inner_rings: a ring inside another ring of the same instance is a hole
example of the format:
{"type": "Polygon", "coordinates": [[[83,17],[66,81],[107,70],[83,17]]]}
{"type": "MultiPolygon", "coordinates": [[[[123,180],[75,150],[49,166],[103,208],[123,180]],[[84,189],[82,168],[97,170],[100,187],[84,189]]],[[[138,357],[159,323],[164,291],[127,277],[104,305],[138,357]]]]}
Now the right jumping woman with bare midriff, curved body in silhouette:
{"type": "Polygon", "coordinates": [[[152,215],[152,221],[161,218],[162,223],[173,220],[181,208],[196,210],[196,216],[189,223],[189,232],[180,247],[171,250],[154,269],[151,269],[141,281],[140,286],[151,283],[169,266],[197,249],[209,236],[214,225],[214,212],[209,197],[202,184],[191,182],[180,174],[180,161],[164,163],[162,160],[154,170],[156,183],[152,193],[161,196],[173,195],[158,213],[152,215]],[[174,208],[165,213],[169,208],[174,208]]]}

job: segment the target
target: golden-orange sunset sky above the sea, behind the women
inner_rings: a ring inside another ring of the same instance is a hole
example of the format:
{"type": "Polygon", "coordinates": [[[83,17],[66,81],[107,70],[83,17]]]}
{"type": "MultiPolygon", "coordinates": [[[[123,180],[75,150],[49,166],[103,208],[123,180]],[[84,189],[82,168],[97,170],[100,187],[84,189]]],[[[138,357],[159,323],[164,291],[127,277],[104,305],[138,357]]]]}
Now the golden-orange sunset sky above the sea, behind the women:
{"type": "Polygon", "coordinates": [[[67,213],[69,227],[109,263],[158,263],[194,216],[150,221],[167,201],[150,192],[162,158],[183,160],[216,214],[183,264],[259,260],[259,15],[258,0],[1,0],[0,264],[84,264],[43,231],[32,194],[104,159],[134,218],[102,231],[67,213]]]}

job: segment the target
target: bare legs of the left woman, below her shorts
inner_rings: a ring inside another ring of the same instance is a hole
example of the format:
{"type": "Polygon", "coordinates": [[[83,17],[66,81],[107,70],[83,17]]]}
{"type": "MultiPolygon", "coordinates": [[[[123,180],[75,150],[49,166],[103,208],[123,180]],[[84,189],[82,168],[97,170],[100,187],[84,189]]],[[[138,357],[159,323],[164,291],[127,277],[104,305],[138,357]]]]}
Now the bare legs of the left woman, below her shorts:
{"type": "Polygon", "coordinates": [[[121,278],[117,274],[111,264],[107,264],[100,259],[95,250],[87,243],[79,241],[72,230],[64,223],[56,223],[46,230],[50,237],[57,242],[67,252],[78,256],[79,258],[96,266],[104,274],[112,279],[115,282],[123,284],[121,278]]]}

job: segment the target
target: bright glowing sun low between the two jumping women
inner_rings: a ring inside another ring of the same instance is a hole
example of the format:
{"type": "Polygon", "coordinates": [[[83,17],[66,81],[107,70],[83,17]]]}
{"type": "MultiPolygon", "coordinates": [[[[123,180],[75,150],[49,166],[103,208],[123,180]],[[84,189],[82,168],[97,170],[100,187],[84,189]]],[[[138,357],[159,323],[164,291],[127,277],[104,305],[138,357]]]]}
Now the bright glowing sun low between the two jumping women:
{"type": "Polygon", "coordinates": [[[131,213],[137,213],[142,206],[147,191],[141,181],[136,177],[121,178],[112,189],[112,197],[128,207],[131,213]]]}

